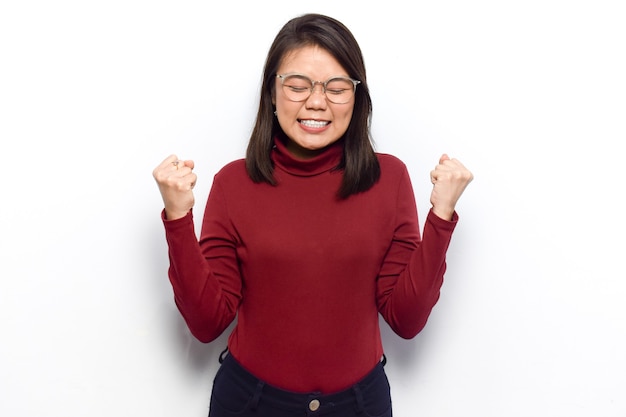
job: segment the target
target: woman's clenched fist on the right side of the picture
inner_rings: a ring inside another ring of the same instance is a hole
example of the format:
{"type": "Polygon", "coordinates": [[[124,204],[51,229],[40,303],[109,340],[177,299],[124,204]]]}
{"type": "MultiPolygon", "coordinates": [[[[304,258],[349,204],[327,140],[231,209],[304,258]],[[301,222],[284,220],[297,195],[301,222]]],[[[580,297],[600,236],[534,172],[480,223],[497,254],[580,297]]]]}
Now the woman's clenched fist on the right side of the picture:
{"type": "Polygon", "coordinates": [[[439,164],[430,172],[433,212],[442,219],[451,220],[459,197],[473,179],[474,175],[460,161],[441,155],[439,164]]]}

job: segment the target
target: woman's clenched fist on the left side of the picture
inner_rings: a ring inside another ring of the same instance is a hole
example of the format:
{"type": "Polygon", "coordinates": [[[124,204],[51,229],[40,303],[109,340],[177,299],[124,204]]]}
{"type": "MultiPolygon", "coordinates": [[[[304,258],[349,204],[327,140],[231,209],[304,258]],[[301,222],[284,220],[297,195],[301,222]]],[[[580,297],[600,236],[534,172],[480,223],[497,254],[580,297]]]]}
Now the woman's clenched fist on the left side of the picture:
{"type": "Polygon", "coordinates": [[[182,161],[176,155],[170,155],[152,171],[168,220],[185,217],[195,203],[192,190],[197,176],[192,171],[193,167],[193,161],[182,161]]]}

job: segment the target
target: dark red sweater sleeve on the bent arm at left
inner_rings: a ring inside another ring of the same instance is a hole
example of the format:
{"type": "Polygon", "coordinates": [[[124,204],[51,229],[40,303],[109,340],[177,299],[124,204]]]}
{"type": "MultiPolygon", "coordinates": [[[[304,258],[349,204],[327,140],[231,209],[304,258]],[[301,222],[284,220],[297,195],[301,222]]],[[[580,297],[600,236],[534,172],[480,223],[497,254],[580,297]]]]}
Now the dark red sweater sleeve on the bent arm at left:
{"type": "Polygon", "coordinates": [[[241,300],[235,243],[226,228],[226,210],[219,195],[214,183],[200,241],[192,212],[182,219],[164,219],[174,299],[190,331],[202,342],[222,334],[234,320],[241,300]],[[205,224],[210,225],[209,231],[205,224]]]}

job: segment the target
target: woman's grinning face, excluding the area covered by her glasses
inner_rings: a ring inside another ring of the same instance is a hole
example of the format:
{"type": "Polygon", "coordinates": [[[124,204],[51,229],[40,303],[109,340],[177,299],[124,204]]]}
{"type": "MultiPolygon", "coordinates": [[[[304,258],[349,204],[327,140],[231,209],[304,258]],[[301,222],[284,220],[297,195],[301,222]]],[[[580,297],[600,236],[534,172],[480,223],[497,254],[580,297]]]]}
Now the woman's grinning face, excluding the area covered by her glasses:
{"type": "MultiPolygon", "coordinates": [[[[348,77],[339,62],[318,46],[291,51],[283,58],[277,73],[299,73],[322,82],[334,76],[348,77]]],[[[316,84],[306,100],[291,101],[285,96],[278,78],[273,103],[280,127],[288,137],[287,149],[300,158],[311,158],[341,138],[354,110],[354,97],[344,104],[331,103],[320,84],[316,84]]]]}

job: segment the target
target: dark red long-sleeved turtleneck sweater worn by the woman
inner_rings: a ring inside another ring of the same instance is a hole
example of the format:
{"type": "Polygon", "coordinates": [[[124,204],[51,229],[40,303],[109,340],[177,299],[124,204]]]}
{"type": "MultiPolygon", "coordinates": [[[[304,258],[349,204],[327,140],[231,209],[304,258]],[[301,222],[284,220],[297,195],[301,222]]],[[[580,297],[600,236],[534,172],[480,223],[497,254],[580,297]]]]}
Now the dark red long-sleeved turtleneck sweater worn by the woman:
{"type": "Polygon", "coordinates": [[[176,304],[199,340],[237,316],[231,354],[294,392],[347,388],[379,362],[378,314],[414,337],[439,298],[457,221],[429,212],[420,237],[405,165],[379,154],[380,181],[338,200],[336,143],[296,160],[277,141],[277,185],[254,183],[243,160],[222,168],[200,239],[192,213],[164,220],[176,304]]]}

